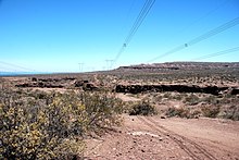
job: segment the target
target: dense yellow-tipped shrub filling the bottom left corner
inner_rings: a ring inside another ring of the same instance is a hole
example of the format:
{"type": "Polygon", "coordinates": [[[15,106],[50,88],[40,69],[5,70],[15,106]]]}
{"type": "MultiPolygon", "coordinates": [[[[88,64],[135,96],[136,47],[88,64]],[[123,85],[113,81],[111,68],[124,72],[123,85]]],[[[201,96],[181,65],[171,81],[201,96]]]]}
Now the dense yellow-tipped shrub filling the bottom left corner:
{"type": "Polygon", "coordinates": [[[84,148],[81,140],[76,140],[76,136],[79,136],[84,128],[81,119],[76,119],[81,118],[81,110],[80,104],[67,106],[64,99],[59,97],[54,97],[49,106],[38,106],[37,101],[27,103],[12,101],[1,104],[0,157],[7,159],[76,157],[84,148]]]}

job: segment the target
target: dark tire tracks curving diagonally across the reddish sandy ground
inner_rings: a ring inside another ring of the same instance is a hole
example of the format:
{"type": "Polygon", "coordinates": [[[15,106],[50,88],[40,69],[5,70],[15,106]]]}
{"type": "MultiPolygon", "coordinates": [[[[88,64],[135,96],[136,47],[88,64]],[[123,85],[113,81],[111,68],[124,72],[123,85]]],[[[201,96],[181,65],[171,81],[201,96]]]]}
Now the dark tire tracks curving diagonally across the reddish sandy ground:
{"type": "Polygon", "coordinates": [[[165,128],[164,126],[160,125],[154,120],[152,120],[152,118],[142,118],[142,116],[137,116],[137,118],[149,127],[153,128],[160,134],[163,134],[164,136],[169,137],[193,160],[200,160],[200,159],[216,160],[216,158],[213,155],[211,155],[207,150],[205,150],[197,143],[165,128]]]}

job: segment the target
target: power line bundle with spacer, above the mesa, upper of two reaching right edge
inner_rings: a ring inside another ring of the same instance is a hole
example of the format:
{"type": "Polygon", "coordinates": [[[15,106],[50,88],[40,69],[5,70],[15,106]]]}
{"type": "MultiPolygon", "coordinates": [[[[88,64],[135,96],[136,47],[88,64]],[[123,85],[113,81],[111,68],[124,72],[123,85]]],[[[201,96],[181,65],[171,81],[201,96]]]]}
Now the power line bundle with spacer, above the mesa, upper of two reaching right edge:
{"type": "Polygon", "coordinates": [[[159,57],[155,57],[155,58],[149,60],[148,62],[153,62],[153,61],[155,61],[158,59],[161,59],[161,58],[166,57],[168,54],[172,54],[172,53],[175,53],[177,51],[180,51],[180,50],[183,50],[183,49],[185,49],[185,48],[187,48],[189,46],[196,45],[196,44],[198,44],[198,42],[200,42],[202,40],[205,40],[205,39],[207,39],[207,38],[210,38],[212,36],[217,35],[217,34],[219,34],[219,33],[222,33],[222,32],[224,32],[224,30],[226,30],[228,28],[231,28],[231,27],[234,27],[234,26],[236,26],[238,24],[239,24],[239,17],[236,17],[236,19],[234,19],[234,20],[231,20],[231,21],[229,21],[227,23],[224,23],[223,25],[221,25],[221,26],[218,26],[218,27],[216,27],[216,28],[214,28],[214,29],[212,29],[212,30],[210,30],[210,32],[199,36],[199,37],[196,37],[196,38],[189,40],[188,42],[186,42],[184,45],[175,47],[174,49],[172,49],[172,50],[169,50],[169,51],[167,51],[167,52],[165,52],[165,53],[163,53],[163,54],[161,54],[159,57]]]}

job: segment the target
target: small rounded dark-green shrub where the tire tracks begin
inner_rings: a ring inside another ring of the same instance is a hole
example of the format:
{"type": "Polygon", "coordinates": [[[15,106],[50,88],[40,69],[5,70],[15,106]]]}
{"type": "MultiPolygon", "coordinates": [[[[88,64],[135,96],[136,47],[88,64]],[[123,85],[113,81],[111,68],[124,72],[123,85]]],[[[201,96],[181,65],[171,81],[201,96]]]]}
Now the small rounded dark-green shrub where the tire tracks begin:
{"type": "Polygon", "coordinates": [[[156,114],[156,110],[148,101],[137,102],[129,109],[129,115],[152,115],[156,114]]]}

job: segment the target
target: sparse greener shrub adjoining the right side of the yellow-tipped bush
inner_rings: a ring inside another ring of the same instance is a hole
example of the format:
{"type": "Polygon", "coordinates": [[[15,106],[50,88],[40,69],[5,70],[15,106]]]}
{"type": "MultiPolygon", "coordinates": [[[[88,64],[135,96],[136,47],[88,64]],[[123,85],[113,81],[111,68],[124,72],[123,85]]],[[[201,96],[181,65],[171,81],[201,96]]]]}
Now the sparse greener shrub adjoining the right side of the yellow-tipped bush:
{"type": "Polygon", "coordinates": [[[103,128],[121,123],[123,101],[106,93],[81,93],[79,100],[85,107],[88,131],[100,133],[103,128]]]}

